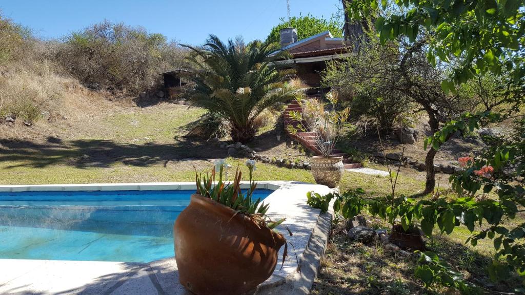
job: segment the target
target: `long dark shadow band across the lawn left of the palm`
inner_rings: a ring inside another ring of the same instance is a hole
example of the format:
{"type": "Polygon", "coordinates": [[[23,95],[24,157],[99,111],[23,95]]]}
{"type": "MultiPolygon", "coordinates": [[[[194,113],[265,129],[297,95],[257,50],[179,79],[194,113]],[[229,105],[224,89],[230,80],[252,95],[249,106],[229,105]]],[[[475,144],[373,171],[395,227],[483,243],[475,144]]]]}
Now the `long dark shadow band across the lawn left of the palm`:
{"type": "Polygon", "coordinates": [[[114,163],[149,166],[170,161],[225,157],[226,151],[206,142],[176,140],[173,144],[118,143],[110,140],[74,140],[62,142],[48,138],[46,143],[0,140],[0,161],[11,161],[14,167],[70,165],[78,168],[108,167],[114,163]]]}

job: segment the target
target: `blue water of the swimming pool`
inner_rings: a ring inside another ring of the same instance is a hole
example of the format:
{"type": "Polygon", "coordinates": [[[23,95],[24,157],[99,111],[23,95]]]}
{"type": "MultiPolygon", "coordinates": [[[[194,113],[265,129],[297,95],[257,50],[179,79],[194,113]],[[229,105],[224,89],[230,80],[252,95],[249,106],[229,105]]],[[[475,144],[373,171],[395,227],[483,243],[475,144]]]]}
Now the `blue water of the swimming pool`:
{"type": "MultiPolygon", "coordinates": [[[[195,191],[0,193],[0,258],[149,262],[174,256],[195,191]]],[[[255,198],[272,191],[257,189],[255,198]]]]}

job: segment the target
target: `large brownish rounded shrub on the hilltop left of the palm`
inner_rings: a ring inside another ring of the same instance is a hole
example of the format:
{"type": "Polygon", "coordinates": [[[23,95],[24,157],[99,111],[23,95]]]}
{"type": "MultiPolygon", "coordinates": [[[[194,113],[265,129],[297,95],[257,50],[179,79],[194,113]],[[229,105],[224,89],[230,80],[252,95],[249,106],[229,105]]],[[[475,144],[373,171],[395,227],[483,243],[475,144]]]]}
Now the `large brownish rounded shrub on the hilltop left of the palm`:
{"type": "Polygon", "coordinates": [[[54,58],[66,72],[89,87],[130,94],[153,87],[159,73],[181,67],[184,58],[184,50],[161,34],[108,21],[63,41],[54,58]]]}

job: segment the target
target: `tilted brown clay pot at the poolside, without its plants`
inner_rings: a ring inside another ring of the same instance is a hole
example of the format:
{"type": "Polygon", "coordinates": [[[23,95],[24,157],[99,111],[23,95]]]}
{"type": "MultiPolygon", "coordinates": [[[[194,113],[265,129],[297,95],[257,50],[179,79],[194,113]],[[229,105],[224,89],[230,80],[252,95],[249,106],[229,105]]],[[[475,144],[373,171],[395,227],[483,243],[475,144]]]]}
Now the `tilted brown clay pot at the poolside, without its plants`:
{"type": "Polygon", "coordinates": [[[198,295],[243,294],[274,272],[285,239],[243,214],[194,194],[173,227],[178,278],[198,295]]]}

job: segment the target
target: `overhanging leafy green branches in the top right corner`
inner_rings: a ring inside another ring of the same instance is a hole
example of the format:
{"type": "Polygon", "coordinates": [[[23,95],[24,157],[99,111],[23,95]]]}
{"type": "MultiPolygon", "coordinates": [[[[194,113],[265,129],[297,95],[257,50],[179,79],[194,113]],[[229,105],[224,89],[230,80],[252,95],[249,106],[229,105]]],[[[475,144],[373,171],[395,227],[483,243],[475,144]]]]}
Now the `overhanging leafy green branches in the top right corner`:
{"type": "Polygon", "coordinates": [[[423,29],[429,32],[427,58],[444,62],[461,58],[445,92],[455,92],[454,85],[466,82],[476,73],[490,71],[499,75],[503,69],[515,80],[525,76],[525,2],[523,0],[377,0],[353,1],[348,12],[354,19],[373,14],[381,43],[398,36],[414,42],[423,29]],[[380,15],[381,12],[394,12],[380,15]]]}

